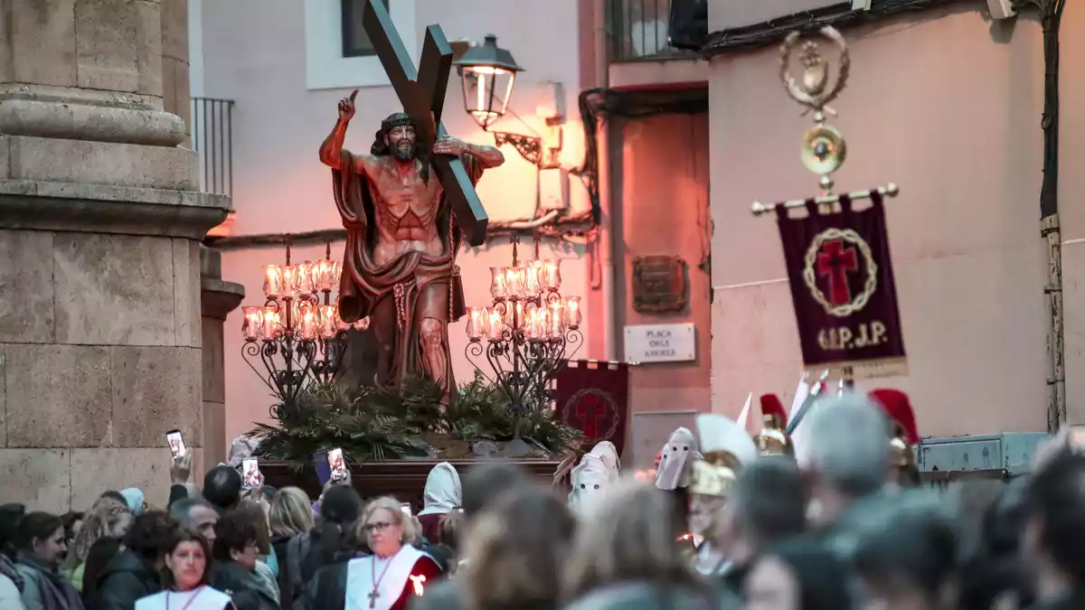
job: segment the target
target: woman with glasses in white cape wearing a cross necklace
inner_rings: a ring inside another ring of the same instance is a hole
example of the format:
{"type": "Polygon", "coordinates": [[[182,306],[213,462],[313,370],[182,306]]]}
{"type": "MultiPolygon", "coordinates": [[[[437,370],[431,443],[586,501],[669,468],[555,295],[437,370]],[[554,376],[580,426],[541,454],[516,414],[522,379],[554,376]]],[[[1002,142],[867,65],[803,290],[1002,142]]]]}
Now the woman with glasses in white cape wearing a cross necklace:
{"type": "Polygon", "coordinates": [[[441,577],[437,562],[410,544],[417,530],[399,500],[383,497],[369,503],[349,535],[363,555],[319,570],[304,608],[342,610],[350,600],[352,608],[409,610],[411,601],[441,577]]]}

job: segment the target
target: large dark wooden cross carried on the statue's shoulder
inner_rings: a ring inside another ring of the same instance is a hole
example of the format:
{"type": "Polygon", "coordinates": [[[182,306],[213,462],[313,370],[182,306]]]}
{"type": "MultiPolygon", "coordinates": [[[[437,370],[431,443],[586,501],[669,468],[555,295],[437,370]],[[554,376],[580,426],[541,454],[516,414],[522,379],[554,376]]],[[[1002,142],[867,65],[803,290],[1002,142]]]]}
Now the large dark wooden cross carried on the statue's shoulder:
{"type": "MultiPolygon", "coordinates": [[[[384,2],[367,0],[361,23],[404,112],[414,123],[418,143],[424,150],[431,150],[437,138],[448,135],[441,124],[448,73],[452,67],[452,48],[445,38],[445,31],[439,25],[425,28],[422,60],[416,71],[384,2]]],[[[478,193],[463,163],[459,157],[438,154],[433,156],[433,167],[467,242],[482,245],[486,241],[489,217],[478,201],[478,193]]]]}

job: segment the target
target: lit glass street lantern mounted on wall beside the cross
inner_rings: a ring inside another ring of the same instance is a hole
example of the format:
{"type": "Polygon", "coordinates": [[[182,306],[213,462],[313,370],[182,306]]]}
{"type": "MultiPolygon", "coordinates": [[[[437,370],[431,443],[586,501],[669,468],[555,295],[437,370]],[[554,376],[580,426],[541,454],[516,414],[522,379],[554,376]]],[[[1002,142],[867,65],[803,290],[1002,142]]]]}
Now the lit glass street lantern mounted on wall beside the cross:
{"type": "Polygon", "coordinates": [[[497,37],[486,36],[481,47],[472,47],[455,62],[463,79],[463,109],[484,130],[505,116],[516,74],[524,71],[512,53],[497,46],[497,37]]]}

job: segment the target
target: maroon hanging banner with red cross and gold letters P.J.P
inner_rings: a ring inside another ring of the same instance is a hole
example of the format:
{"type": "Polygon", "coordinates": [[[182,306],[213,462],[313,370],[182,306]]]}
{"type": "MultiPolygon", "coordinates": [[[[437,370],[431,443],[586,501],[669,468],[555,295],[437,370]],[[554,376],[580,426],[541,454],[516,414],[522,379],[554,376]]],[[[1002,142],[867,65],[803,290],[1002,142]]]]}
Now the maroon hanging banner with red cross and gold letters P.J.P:
{"type": "Polygon", "coordinates": [[[904,359],[885,208],[879,193],[870,199],[856,212],[841,195],[828,214],[808,201],[803,218],[776,208],[807,367],[904,359]]]}

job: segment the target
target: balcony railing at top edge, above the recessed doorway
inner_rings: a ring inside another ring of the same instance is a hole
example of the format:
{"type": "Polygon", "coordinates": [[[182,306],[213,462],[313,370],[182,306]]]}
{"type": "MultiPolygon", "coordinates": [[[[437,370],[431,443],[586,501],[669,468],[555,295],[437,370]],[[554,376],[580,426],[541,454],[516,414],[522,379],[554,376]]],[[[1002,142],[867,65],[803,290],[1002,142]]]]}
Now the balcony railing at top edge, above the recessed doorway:
{"type": "Polygon", "coordinates": [[[607,12],[612,62],[691,56],[667,46],[671,0],[609,0],[607,12]]]}

